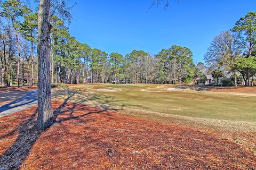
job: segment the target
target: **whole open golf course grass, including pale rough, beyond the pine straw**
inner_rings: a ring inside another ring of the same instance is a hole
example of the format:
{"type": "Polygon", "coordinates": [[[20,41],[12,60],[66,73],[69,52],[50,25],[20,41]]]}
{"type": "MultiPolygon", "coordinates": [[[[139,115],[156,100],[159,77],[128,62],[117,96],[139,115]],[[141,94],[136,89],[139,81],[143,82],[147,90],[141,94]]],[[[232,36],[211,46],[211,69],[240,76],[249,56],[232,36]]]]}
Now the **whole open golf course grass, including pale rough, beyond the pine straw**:
{"type": "Polygon", "coordinates": [[[211,130],[256,154],[256,95],[225,89],[169,84],[79,84],[54,90],[53,99],[211,130]],[[212,92],[219,89],[222,92],[212,92]]]}

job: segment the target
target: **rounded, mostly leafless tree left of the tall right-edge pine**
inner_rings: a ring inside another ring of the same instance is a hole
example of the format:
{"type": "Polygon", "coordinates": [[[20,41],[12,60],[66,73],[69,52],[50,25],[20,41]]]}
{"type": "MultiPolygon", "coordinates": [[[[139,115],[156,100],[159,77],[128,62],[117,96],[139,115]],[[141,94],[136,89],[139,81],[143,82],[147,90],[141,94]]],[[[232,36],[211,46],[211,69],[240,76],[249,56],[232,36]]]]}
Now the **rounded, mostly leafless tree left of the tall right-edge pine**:
{"type": "Polygon", "coordinates": [[[237,86],[238,67],[236,61],[241,58],[241,52],[242,46],[238,37],[226,31],[214,38],[211,46],[207,49],[204,61],[211,70],[223,67],[231,72],[235,79],[235,86],[237,86]]]}

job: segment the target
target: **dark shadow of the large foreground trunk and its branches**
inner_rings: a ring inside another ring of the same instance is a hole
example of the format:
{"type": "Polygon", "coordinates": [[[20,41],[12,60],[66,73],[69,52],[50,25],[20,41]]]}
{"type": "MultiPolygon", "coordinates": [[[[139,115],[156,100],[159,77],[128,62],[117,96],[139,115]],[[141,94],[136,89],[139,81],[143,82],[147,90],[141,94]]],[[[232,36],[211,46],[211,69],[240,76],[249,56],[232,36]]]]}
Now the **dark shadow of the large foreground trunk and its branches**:
{"type": "MultiPolygon", "coordinates": [[[[85,114],[74,116],[73,112],[76,111],[76,106],[85,103],[86,100],[90,100],[92,97],[91,94],[87,95],[79,100],[76,100],[74,103],[69,103],[71,98],[73,98],[76,94],[76,90],[68,90],[68,97],[63,101],[63,103],[55,108],[53,111],[54,118],[57,120],[57,123],[62,123],[68,120],[79,120],[79,118],[93,114],[93,113],[103,113],[105,111],[117,111],[116,109],[110,108],[108,106],[108,102],[112,102],[106,100],[106,103],[96,104],[94,107],[99,109],[93,110],[83,110],[85,114]],[[66,108],[67,107],[67,108],[66,108]],[[57,118],[59,115],[69,113],[68,117],[65,118],[57,118]]],[[[103,100],[102,100],[103,101],[103,100]]],[[[8,138],[11,135],[18,132],[18,138],[15,140],[13,145],[8,148],[1,156],[0,156],[0,169],[19,169],[22,166],[22,162],[28,156],[30,149],[33,147],[37,139],[41,136],[41,134],[47,129],[38,129],[34,127],[36,121],[37,111],[33,113],[28,121],[21,122],[21,125],[17,128],[18,130],[13,130],[6,135],[2,135],[1,139],[8,138]]],[[[50,127],[51,128],[51,127],[50,127]]],[[[26,165],[24,165],[26,166],[26,165]]],[[[24,167],[26,168],[26,167],[24,167]]]]}

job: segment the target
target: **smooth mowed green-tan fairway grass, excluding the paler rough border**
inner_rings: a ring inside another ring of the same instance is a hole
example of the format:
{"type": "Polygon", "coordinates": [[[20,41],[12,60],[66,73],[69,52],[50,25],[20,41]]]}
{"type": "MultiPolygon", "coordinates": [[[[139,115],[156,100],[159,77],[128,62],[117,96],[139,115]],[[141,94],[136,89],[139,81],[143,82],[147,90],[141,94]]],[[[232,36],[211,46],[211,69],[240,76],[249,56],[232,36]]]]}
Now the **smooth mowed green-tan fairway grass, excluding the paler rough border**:
{"type": "MultiPolygon", "coordinates": [[[[74,86],[77,90],[91,85],[74,86]]],[[[112,106],[125,106],[145,111],[217,120],[256,122],[256,97],[199,91],[168,91],[161,84],[94,84],[100,88],[121,89],[115,92],[96,92],[91,100],[112,106]],[[157,92],[142,89],[161,89],[157,92]]],[[[134,113],[136,114],[136,113],[134,113]]]]}

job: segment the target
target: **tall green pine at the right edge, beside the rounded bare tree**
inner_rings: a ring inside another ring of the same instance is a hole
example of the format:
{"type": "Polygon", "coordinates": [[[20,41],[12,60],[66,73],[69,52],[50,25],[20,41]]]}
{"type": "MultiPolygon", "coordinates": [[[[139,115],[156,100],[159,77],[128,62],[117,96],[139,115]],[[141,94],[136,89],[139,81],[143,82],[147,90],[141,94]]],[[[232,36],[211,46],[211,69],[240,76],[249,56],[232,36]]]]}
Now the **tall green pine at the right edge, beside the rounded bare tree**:
{"type": "MultiPolygon", "coordinates": [[[[236,22],[235,27],[231,30],[238,34],[244,47],[244,52],[246,54],[245,58],[250,58],[252,56],[253,48],[256,45],[256,12],[247,13],[236,22]]],[[[250,78],[252,76],[251,69],[249,67],[244,68],[242,74],[245,72],[247,74],[246,84],[247,86],[250,86],[250,78]]]]}

